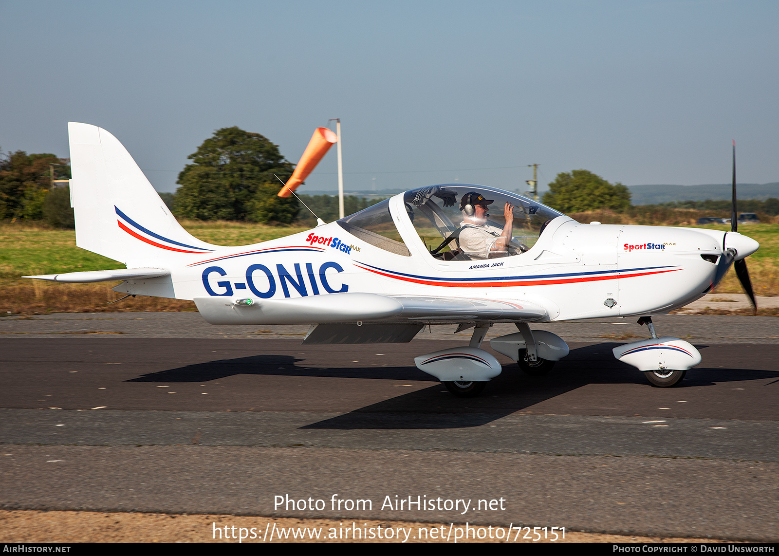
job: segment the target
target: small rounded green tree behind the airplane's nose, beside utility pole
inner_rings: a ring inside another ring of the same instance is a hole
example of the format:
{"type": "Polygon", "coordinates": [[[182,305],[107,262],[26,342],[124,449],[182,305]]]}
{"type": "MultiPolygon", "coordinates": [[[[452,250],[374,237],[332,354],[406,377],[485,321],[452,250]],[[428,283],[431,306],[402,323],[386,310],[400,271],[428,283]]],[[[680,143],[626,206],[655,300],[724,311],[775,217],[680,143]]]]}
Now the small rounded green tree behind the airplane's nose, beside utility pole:
{"type": "Polygon", "coordinates": [[[561,172],[549,183],[544,203],[562,213],[585,210],[624,210],[630,206],[630,192],[625,185],[614,185],[587,170],[561,172]]]}

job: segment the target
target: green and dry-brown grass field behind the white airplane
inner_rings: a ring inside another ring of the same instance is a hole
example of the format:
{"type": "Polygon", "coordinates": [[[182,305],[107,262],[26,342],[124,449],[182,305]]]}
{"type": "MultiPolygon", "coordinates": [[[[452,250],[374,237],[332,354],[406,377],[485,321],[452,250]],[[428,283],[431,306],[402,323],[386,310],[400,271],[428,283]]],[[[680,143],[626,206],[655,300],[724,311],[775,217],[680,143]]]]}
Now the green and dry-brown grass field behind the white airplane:
{"type": "MultiPolygon", "coordinates": [[[[271,227],[241,222],[182,221],[196,238],[216,245],[248,245],[281,238],[305,230],[301,227],[271,227]]],[[[714,230],[729,230],[710,225],[714,230]]],[[[747,260],[757,295],[779,295],[779,226],[742,225],[742,234],[760,242],[760,250],[747,260]]],[[[121,297],[105,283],[61,284],[23,280],[30,274],[69,273],[82,270],[122,268],[122,264],[76,247],[73,230],[55,230],[24,223],[0,223],[0,311],[46,313],[60,311],[182,311],[192,310],[190,301],[152,297],[109,305],[121,297]]],[[[735,273],[728,272],[717,287],[720,293],[742,293],[735,273]]]]}

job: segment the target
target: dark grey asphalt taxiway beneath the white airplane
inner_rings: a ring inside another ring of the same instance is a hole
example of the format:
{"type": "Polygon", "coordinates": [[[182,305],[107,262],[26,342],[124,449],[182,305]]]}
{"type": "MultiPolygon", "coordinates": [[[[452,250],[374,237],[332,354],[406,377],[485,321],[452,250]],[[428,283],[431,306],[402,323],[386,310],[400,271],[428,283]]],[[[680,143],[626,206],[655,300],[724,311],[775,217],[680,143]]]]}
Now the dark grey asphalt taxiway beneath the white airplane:
{"type": "Polygon", "coordinates": [[[503,374],[458,399],[413,364],[467,341],[450,329],[301,346],[306,327],[209,327],[192,313],[2,318],[0,507],[779,540],[776,318],[655,323],[703,354],[679,387],[615,361],[612,347],[646,333],[601,319],[537,326],[576,340],[550,375],[496,354],[503,374]],[[333,495],[372,508],[331,509],[333,495]],[[409,495],[473,507],[386,507],[409,495]],[[505,509],[477,507],[499,498],[505,509]]]}

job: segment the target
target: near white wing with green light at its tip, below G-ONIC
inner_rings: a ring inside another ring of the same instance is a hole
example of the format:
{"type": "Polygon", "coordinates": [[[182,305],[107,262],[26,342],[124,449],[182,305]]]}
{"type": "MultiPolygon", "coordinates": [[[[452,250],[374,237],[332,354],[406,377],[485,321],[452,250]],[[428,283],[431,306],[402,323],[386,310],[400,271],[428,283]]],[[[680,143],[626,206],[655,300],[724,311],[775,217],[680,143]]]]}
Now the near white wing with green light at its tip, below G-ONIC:
{"type": "Polygon", "coordinates": [[[534,322],[548,320],[551,312],[529,301],[360,293],[283,300],[251,298],[249,304],[221,296],[195,297],[194,301],[203,318],[217,325],[534,322]]]}

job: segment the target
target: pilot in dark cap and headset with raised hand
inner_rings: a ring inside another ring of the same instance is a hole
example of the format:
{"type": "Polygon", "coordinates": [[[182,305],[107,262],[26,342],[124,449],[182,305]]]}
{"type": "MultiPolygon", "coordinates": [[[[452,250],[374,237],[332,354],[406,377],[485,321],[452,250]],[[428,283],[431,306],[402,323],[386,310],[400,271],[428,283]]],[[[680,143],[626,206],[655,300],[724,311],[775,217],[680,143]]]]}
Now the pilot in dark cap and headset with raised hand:
{"type": "Polygon", "coordinates": [[[474,191],[467,192],[460,199],[460,211],[463,213],[463,222],[460,224],[460,251],[471,259],[505,257],[516,253],[515,248],[521,250],[521,246],[510,245],[514,206],[506,202],[506,206],[503,207],[506,224],[501,230],[487,223],[489,216],[487,206],[492,202],[493,199],[485,199],[474,191]]]}

